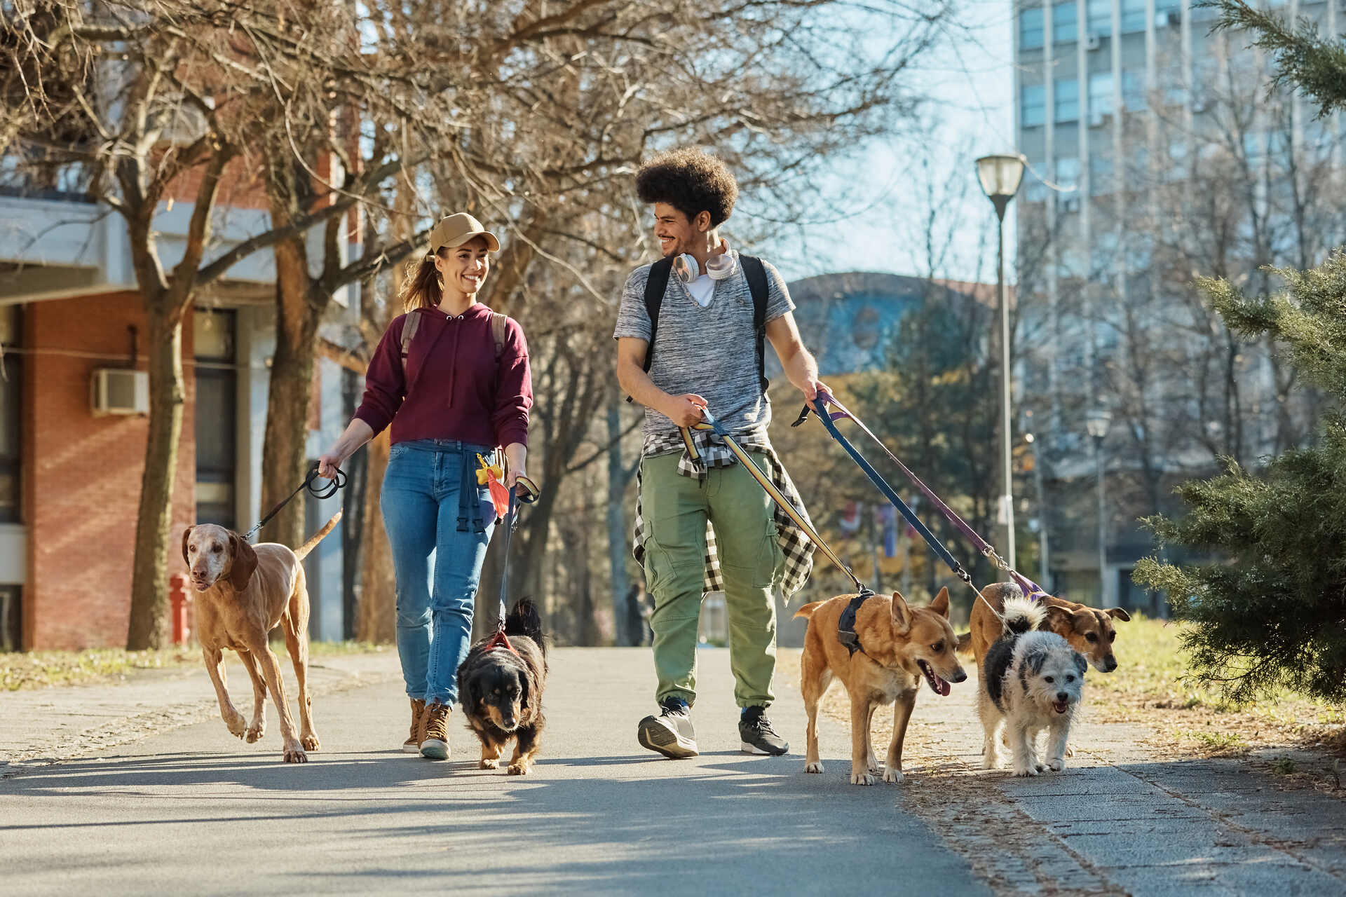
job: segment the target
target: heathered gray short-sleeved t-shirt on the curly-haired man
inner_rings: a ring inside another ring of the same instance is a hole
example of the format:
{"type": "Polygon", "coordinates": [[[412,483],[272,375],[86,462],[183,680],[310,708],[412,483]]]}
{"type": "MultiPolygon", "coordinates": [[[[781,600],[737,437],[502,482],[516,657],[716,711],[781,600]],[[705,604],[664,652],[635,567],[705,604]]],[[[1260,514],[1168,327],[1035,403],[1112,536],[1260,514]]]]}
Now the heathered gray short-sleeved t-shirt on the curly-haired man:
{"type": "MultiPolygon", "coordinates": [[[[771,422],[771,403],[758,379],[756,335],[752,332],[752,292],[735,257],[734,273],[715,284],[711,304],[701,308],[686,286],[669,274],[660,305],[658,346],[650,379],[669,395],[696,393],[709,405],[711,414],[731,433],[743,433],[771,422]]],[[[766,268],[766,320],[774,321],[794,311],[790,292],[773,265],[766,268]]],[[[650,316],[645,311],[645,284],[650,265],[631,272],[622,288],[615,339],[650,339],[650,316]]],[[[762,351],[770,351],[763,346],[762,351]]],[[[645,409],[645,434],[676,432],[677,425],[651,407],[645,409]]]]}

